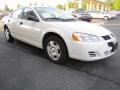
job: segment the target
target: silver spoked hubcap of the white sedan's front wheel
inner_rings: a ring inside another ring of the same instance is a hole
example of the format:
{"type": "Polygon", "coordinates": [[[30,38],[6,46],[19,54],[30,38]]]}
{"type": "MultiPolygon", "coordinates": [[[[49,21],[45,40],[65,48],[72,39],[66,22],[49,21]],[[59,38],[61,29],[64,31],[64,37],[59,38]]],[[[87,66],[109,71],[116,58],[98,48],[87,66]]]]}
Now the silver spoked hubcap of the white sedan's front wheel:
{"type": "Polygon", "coordinates": [[[53,60],[58,60],[61,55],[59,44],[55,41],[50,41],[47,45],[47,52],[50,58],[52,58],[53,60]]]}

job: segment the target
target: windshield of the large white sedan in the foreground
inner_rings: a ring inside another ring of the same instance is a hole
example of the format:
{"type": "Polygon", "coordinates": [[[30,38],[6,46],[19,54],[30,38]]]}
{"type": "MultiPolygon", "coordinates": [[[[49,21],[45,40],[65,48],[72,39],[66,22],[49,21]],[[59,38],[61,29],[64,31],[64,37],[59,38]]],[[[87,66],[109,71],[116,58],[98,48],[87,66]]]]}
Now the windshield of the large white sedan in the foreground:
{"type": "Polygon", "coordinates": [[[45,20],[75,20],[75,18],[68,14],[67,12],[51,7],[35,7],[36,11],[40,15],[40,17],[45,20]]]}

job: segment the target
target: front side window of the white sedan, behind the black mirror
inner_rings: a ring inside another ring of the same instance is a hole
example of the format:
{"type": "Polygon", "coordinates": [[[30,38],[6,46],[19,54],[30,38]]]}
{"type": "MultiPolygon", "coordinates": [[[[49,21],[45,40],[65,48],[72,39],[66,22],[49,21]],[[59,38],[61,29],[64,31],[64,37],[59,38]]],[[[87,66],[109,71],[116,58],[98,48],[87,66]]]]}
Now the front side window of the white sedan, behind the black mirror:
{"type": "Polygon", "coordinates": [[[37,18],[36,14],[31,8],[25,8],[22,13],[22,18],[25,20],[28,20],[28,17],[34,17],[37,18]]]}

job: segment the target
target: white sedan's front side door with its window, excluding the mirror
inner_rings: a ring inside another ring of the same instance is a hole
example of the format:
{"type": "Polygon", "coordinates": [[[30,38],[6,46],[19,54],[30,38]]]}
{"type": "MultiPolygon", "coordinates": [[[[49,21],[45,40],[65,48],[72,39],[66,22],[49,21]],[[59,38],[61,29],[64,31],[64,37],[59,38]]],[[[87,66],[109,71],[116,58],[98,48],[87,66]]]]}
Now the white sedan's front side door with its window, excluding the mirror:
{"type": "Polygon", "coordinates": [[[24,8],[22,21],[20,22],[20,36],[25,42],[40,47],[40,22],[28,20],[29,16],[38,19],[36,13],[31,8],[24,8]]]}

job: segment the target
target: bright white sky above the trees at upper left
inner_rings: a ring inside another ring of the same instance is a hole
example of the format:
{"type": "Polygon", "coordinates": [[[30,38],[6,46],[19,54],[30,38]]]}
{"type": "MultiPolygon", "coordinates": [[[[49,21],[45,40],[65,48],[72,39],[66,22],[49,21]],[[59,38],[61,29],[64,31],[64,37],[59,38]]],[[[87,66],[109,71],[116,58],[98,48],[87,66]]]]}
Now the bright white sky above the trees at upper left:
{"type": "Polygon", "coordinates": [[[28,6],[29,3],[37,3],[37,5],[44,4],[55,7],[57,4],[64,4],[65,2],[67,2],[67,0],[0,0],[0,9],[3,9],[5,4],[7,4],[10,9],[15,9],[17,4],[28,6]]]}

